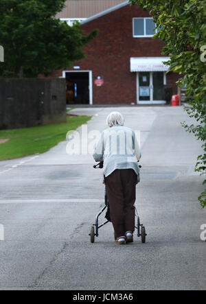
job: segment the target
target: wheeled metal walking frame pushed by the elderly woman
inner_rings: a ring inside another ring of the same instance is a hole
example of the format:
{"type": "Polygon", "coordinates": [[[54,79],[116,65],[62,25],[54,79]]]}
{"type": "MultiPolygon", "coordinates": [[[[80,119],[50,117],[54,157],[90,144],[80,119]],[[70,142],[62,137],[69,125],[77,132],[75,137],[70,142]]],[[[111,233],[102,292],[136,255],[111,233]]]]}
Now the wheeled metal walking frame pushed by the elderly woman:
{"type": "MultiPolygon", "coordinates": [[[[103,162],[100,162],[98,163],[98,165],[94,165],[93,166],[95,169],[97,168],[100,168],[102,169],[103,168],[103,162]]],[[[141,168],[141,166],[139,166],[141,168]]],[[[146,242],[146,229],[145,227],[143,226],[143,224],[140,223],[140,219],[139,219],[139,215],[137,213],[137,208],[135,207],[135,221],[136,221],[136,224],[135,224],[135,229],[137,229],[137,237],[141,237],[141,242],[144,244],[146,242]]],[[[111,222],[110,220],[110,215],[109,215],[109,202],[108,202],[108,197],[107,197],[107,194],[106,194],[106,189],[105,189],[105,194],[104,194],[104,207],[102,208],[102,210],[98,213],[98,215],[96,216],[95,218],[95,224],[93,224],[91,226],[91,230],[90,230],[90,240],[91,240],[91,243],[94,243],[95,242],[95,237],[98,237],[99,236],[99,229],[106,225],[108,222],[111,222]],[[106,211],[106,221],[103,222],[102,224],[99,224],[99,218],[100,218],[100,215],[105,211],[106,211]]],[[[115,235],[114,233],[114,237],[115,239],[117,238],[117,236],[115,235]]]]}

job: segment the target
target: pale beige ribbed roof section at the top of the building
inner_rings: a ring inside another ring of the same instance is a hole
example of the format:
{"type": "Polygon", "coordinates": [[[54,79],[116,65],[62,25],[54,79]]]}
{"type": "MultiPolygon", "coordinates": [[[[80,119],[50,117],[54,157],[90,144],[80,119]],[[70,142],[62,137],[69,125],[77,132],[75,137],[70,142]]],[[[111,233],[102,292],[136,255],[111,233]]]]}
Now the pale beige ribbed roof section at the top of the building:
{"type": "Polygon", "coordinates": [[[125,0],[67,0],[65,8],[56,17],[64,19],[89,18],[121,5],[121,3],[125,3],[125,0]]]}

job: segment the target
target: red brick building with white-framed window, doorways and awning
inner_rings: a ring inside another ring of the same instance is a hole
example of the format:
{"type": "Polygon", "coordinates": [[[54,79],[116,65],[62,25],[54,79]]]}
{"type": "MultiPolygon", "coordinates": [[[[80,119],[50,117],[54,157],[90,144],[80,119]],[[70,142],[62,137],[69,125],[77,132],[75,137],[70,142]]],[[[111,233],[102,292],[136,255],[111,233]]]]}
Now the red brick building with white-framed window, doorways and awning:
{"type": "Polygon", "coordinates": [[[84,46],[86,58],[52,76],[66,78],[69,103],[164,104],[163,87],[177,93],[179,75],[166,73],[163,43],[154,39],[155,23],[139,5],[128,1],[82,21],[86,33],[98,37],[84,46]]]}

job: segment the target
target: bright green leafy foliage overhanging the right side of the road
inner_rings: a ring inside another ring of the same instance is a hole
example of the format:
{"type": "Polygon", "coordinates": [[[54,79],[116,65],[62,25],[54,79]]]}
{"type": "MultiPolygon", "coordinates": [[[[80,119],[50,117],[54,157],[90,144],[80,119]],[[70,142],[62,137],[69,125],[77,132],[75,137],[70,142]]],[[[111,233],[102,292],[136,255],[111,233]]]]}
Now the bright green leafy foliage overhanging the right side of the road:
{"type": "MultiPolygon", "coordinates": [[[[196,171],[206,174],[206,0],[130,0],[152,14],[159,32],[155,38],[165,43],[163,54],[170,56],[170,71],[183,74],[179,86],[187,86],[192,108],[187,110],[196,124],[186,130],[203,142],[196,171]],[[204,47],[205,46],[205,47],[204,47]]],[[[206,180],[204,182],[206,185],[206,180]]],[[[198,198],[206,206],[206,189],[198,198]]]]}

